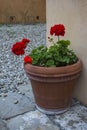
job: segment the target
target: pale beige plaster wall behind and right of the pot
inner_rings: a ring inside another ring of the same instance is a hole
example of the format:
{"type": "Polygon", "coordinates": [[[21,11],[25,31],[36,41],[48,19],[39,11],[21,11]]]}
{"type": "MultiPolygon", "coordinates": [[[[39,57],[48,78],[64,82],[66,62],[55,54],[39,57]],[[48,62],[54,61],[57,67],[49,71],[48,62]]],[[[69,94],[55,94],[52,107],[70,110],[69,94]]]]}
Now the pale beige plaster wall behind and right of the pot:
{"type": "Polygon", "coordinates": [[[64,24],[64,39],[71,41],[71,47],[83,61],[83,72],[76,84],[74,96],[87,105],[87,0],[46,0],[46,19],[47,37],[50,26],[64,24]]]}

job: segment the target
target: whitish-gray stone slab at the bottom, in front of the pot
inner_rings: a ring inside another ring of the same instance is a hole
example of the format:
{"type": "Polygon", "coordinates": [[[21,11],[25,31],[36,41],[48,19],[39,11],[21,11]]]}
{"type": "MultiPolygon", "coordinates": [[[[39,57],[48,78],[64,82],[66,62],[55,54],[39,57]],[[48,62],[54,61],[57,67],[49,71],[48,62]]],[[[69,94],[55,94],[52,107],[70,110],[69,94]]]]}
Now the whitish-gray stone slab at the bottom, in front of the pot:
{"type": "Polygon", "coordinates": [[[46,115],[38,110],[10,119],[8,128],[9,130],[59,130],[46,115]]]}

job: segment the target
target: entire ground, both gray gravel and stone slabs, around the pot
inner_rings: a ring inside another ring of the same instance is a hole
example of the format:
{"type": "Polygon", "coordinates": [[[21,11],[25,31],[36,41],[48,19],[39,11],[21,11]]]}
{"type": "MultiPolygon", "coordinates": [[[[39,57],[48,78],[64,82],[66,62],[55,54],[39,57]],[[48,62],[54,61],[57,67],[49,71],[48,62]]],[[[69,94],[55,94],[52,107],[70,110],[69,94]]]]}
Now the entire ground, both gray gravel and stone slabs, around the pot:
{"type": "Polygon", "coordinates": [[[0,25],[0,130],[87,130],[87,107],[76,99],[61,115],[48,116],[36,109],[24,56],[11,52],[12,44],[22,38],[31,41],[26,54],[46,45],[46,24],[0,25]]]}

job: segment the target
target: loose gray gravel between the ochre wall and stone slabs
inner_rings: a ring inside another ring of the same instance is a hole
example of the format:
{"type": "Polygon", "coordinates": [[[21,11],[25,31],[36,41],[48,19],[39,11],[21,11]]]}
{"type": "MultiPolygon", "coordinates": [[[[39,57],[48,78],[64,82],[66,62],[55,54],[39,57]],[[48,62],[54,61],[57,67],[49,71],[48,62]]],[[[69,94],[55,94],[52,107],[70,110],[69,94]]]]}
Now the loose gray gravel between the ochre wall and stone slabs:
{"type": "Polygon", "coordinates": [[[33,47],[46,45],[46,24],[33,25],[0,25],[0,96],[8,91],[18,92],[19,85],[28,84],[28,78],[23,69],[23,56],[11,52],[12,45],[29,38],[26,48],[28,54],[33,47]]]}

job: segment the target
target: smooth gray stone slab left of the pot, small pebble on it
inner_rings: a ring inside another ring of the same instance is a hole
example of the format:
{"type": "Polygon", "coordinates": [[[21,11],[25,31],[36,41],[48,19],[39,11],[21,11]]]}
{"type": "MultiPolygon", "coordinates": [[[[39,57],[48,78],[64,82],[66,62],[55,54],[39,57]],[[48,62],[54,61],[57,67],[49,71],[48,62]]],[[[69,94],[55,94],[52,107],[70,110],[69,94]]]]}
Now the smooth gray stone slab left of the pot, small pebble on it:
{"type": "Polygon", "coordinates": [[[0,97],[0,117],[8,119],[35,109],[30,98],[18,93],[7,93],[6,97],[0,97]]]}

